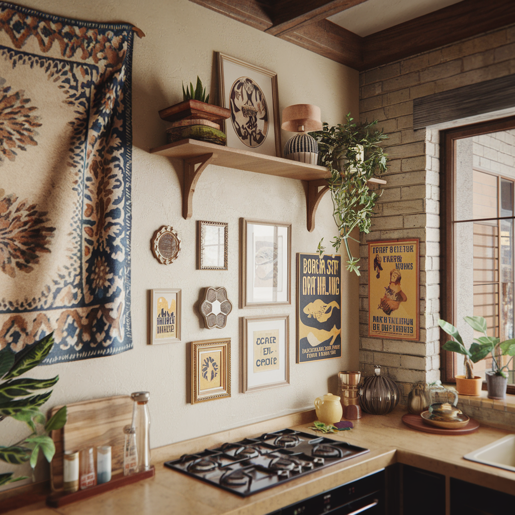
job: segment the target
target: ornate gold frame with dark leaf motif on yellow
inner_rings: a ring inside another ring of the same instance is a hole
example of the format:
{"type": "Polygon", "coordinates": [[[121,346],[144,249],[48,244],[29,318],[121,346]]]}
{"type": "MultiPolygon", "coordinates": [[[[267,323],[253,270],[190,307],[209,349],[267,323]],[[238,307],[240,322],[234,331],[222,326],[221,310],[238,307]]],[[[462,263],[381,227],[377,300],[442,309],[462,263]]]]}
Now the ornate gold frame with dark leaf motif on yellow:
{"type": "Polygon", "coordinates": [[[192,341],[191,403],[231,397],[231,339],[192,341]]]}

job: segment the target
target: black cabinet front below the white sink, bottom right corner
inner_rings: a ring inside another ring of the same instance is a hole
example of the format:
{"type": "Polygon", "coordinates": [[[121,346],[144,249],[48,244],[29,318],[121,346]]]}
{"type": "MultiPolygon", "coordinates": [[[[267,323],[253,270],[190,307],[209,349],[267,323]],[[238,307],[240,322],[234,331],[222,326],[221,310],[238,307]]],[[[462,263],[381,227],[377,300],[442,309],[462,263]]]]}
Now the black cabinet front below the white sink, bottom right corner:
{"type": "Polygon", "coordinates": [[[451,477],[451,515],[508,515],[515,513],[515,495],[497,492],[451,477]]]}

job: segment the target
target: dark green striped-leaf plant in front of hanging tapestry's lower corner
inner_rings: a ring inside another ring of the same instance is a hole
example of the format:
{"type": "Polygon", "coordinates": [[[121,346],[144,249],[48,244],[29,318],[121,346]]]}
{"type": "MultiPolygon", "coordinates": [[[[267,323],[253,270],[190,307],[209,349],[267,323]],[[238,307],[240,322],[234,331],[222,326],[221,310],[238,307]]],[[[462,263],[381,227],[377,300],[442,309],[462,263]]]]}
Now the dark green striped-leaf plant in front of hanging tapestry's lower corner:
{"type": "MultiPolygon", "coordinates": [[[[12,353],[7,347],[0,351],[0,421],[12,417],[25,422],[31,431],[29,436],[13,445],[0,445],[0,459],[12,465],[29,461],[32,469],[35,468],[40,450],[50,462],[56,448],[48,433],[60,429],[66,423],[66,406],[59,409],[48,421],[39,409],[50,398],[52,390],[32,394],[34,391],[54,386],[59,380],[58,375],[52,379],[16,379],[39,365],[53,345],[54,338],[51,333],[17,354],[12,353]]],[[[0,474],[0,486],[27,478],[13,477],[13,474],[14,472],[0,474]]]]}

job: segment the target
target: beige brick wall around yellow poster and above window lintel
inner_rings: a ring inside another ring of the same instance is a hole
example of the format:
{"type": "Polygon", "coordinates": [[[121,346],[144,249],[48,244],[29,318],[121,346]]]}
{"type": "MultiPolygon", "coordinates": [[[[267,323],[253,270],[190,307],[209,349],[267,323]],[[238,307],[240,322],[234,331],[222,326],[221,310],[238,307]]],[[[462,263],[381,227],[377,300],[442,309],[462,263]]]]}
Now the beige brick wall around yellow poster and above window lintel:
{"type": "Polygon", "coordinates": [[[390,135],[385,148],[388,184],[377,203],[367,241],[420,238],[420,341],[368,338],[367,273],[360,285],[360,368],[381,365],[409,391],[414,381],[440,378],[439,132],[413,129],[413,100],[515,73],[515,25],[360,74],[362,121],[379,120],[390,135]]]}

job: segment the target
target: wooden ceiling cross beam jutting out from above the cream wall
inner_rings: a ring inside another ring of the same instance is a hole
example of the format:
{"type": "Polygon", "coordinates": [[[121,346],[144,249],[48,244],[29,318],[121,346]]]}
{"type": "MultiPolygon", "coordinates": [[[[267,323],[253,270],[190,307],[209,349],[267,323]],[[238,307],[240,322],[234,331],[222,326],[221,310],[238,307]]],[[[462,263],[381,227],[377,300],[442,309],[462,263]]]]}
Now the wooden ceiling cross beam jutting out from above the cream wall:
{"type": "Polygon", "coordinates": [[[282,36],[363,2],[366,0],[282,0],[273,7],[273,25],[265,29],[265,32],[282,36]]]}

